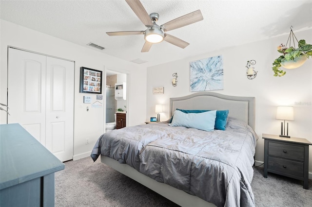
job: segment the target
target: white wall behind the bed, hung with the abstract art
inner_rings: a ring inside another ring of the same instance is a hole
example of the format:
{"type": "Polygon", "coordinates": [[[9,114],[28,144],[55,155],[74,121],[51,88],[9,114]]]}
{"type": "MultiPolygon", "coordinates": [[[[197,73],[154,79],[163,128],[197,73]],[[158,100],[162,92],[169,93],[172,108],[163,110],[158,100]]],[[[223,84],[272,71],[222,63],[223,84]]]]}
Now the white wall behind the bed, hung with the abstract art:
{"type": "MultiPolygon", "coordinates": [[[[305,39],[312,44],[312,30],[296,33],[298,40],[305,39]]],[[[259,136],[255,159],[264,158],[262,133],[280,133],[280,120],[275,120],[277,105],[294,106],[294,121],[289,121],[289,135],[307,138],[312,142],[312,59],[298,69],[287,70],[283,77],[274,77],[272,63],[280,53],[276,47],[286,43],[288,35],[264,41],[205,53],[195,57],[170,62],[147,70],[147,116],[155,117],[155,104],[164,104],[160,119],[169,118],[169,98],[191,94],[189,81],[189,62],[216,55],[223,56],[224,89],[214,92],[234,96],[252,96],[256,99],[255,132],[259,136]],[[254,80],[246,77],[248,60],[255,60],[258,71],[254,80]],[[171,84],[172,74],[177,73],[177,86],[171,84]],[[153,95],[153,87],[164,86],[164,94],[153,95]]],[[[209,47],[209,46],[207,46],[209,47]]],[[[187,48],[185,49],[187,50],[187,48]]],[[[312,147],[310,146],[310,166],[312,172],[312,147]]]]}

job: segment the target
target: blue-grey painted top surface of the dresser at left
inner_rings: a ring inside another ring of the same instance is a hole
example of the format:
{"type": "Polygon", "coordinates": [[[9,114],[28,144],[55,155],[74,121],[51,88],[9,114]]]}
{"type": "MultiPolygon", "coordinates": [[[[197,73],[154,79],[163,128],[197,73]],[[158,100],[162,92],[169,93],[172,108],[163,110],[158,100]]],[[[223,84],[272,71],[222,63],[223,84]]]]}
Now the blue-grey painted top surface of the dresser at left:
{"type": "Polygon", "coordinates": [[[64,167],[64,163],[20,124],[0,124],[0,190],[64,167]]]}

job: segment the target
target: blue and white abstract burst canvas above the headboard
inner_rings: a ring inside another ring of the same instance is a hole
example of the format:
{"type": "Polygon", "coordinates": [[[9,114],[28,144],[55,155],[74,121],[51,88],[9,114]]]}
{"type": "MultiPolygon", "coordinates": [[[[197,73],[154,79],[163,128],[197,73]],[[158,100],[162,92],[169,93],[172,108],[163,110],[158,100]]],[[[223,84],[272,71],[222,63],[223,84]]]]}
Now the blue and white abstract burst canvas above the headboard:
{"type": "Polygon", "coordinates": [[[222,55],[190,62],[191,91],[223,89],[222,55]]]}

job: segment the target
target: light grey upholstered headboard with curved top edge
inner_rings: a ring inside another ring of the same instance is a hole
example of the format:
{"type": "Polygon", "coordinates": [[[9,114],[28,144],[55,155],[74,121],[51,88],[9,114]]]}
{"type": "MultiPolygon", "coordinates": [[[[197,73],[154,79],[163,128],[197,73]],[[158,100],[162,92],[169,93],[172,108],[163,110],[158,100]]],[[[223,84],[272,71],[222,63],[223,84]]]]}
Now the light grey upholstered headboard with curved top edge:
{"type": "Polygon", "coordinates": [[[228,96],[215,92],[198,92],[188,96],[170,98],[169,115],[179,109],[229,110],[229,116],[245,121],[254,129],[255,98],[228,96]]]}

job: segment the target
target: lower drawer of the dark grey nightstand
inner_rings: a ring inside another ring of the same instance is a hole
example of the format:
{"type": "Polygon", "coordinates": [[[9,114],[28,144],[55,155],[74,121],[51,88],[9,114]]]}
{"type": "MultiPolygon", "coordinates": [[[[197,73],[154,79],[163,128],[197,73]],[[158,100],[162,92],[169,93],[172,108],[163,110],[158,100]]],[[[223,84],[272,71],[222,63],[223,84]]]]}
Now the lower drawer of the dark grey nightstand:
{"type": "Polygon", "coordinates": [[[268,169],[303,177],[303,163],[277,157],[268,157],[268,169]]]}

